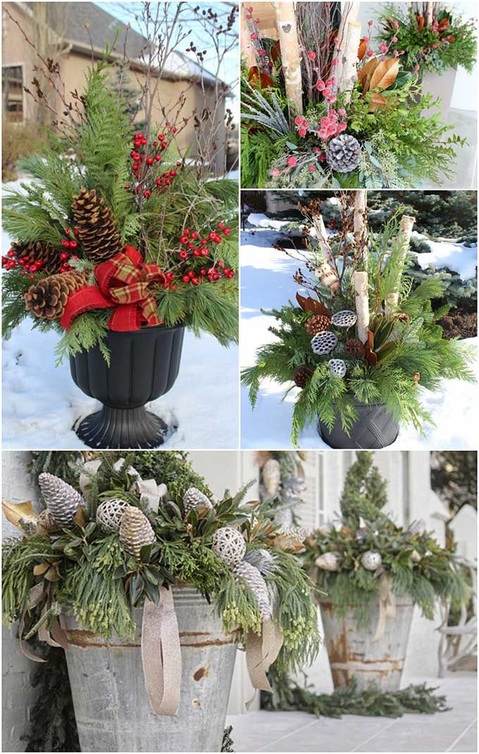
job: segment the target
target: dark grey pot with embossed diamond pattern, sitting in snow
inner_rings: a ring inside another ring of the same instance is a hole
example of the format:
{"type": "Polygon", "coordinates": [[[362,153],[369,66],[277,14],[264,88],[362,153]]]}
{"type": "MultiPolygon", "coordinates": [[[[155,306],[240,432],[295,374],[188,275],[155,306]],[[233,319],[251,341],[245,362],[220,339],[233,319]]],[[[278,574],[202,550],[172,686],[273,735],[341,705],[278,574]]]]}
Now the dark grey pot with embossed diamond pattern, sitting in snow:
{"type": "Polygon", "coordinates": [[[340,416],[331,431],[318,421],[318,432],[331,448],[377,450],[386,448],[398,437],[399,425],[383,403],[359,403],[355,401],[358,419],[349,431],[349,437],[341,426],[340,416]]]}

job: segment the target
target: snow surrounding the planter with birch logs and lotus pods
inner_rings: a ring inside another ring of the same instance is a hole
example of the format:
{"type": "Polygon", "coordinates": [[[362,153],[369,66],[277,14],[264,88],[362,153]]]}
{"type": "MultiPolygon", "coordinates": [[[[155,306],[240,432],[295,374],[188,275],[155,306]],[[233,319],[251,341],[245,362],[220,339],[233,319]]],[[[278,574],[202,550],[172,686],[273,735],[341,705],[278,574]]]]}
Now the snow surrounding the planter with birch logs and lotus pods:
{"type": "MultiPolygon", "coordinates": [[[[292,279],[297,262],[285,253],[272,248],[278,233],[270,228],[256,225],[252,231],[242,234],[241,247],[241,368],[255,363],[255,351],[271,342],[274,336],[268,326],[275,323],[273,317],[261,314],[260,308],[279,308],[288,300],[293,301],[297,285],[292,279]]],[[[441,247],[441,244],[437,244],[441,247]]],[[[471,250],[457,247],[456,256],[450,253],[450,267],[465,269],[462,253],[471,250]]],[[[422,256],[422,255],[418,255],[422,256]]],[[[474,342],[472,340],[468,343],[474,342]]],[[[243,448],[285,449],[290,448],[291,418],[294,400],[299,388],[293,388],[283,400],[285,385],[272,380],[261,382],[258,403],[252,411],[248,391],[241,394],[241,444],[243,448]]],[[[413,428],[401,428],[398,439],[389,449],[473,449],[477,437],[477,386],[460,380],[444,381],[440,391],[423,390],[423,404],[432,414],[435,427],[426,428],[422,437],[413,428]]],[[[302,448],[327,448],[316,428],[310,425],[301,434],[302,448]]]]}

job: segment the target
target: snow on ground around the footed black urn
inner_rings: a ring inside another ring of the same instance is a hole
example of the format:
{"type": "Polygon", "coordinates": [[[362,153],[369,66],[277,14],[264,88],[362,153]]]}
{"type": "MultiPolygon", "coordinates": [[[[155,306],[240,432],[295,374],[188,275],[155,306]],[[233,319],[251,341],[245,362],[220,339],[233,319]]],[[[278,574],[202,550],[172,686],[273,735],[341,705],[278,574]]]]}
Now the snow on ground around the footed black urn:
{"type": "MultiPolygon", "coordinates": [[[[3,348],[4,449],[84,448],[72,426],[101,404],[84,395],[69,361],[55,366],[56,333],[38,333],[29,320],[3,348]]],[[[178,425],[162,448],[222,449],[238,446],[237,348],[212,336],[185,333],[182,364],[171,391],[147,405],[166,424],[178,425]]]]}

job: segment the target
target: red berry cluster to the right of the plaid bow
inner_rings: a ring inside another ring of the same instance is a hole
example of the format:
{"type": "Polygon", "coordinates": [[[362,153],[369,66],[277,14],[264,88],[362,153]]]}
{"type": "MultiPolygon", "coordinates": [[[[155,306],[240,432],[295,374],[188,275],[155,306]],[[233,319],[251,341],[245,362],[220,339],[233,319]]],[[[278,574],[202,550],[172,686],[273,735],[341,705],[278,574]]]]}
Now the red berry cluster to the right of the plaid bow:
{"type": "Polygon", "coordinates": [[[182,267],[180,274],[184,283],[197,286],[200,284],[202,278],[209,280],[209,282],[214,282],[215,280],[219,280],[221,274],[224,277],[234,277],[234,270],[225,267],[222,259],[217,261],[215,259],[215,252],[209,250],[208,241],[212,241],[214,244],[221,244],[222,238],[218,231],[222,231],[226,236],[231,233],[231,228],[224,225],[224,222],[218,222],[217,227],[218,230],[211,231],[208,234],[208,238],[200,238],[200,234],[197,231],[190,231],[189,228],[184,229],[180,238],[180,244],[184,248],[178,251],[182,267]],[[211,259],[211,257],[213,258],[212,263],[207,264],[206,259],[211,259]]]}

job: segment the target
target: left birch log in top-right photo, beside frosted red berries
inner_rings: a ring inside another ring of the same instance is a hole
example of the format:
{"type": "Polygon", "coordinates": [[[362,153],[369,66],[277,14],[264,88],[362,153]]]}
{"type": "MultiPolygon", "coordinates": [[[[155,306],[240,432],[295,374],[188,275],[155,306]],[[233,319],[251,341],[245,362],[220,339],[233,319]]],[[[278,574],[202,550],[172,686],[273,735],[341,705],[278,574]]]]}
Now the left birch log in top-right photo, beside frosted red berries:
{"type": "MultiPolygon", "coordinates": [[[[303,83],[301,81],[301,54],[297,41],[296,13],[292,2],[273,2],[276,14],[282,72],[285,91],[298,115],[303,115],[303,83]]],[[[294,117],[294,116],[293,116],[294,117]]]]}

